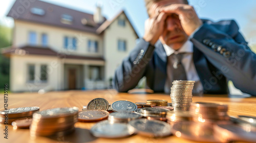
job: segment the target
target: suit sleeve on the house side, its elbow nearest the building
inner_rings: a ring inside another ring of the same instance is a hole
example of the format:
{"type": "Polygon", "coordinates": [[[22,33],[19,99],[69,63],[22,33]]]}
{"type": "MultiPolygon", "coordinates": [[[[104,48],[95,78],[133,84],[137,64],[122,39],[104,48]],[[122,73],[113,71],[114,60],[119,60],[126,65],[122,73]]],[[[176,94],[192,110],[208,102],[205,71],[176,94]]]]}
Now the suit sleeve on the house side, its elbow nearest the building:
{"type": "Polygon", "coordinates": [[[118,92],[127,92],[136,87],[145,75],[147,63],[152,59],[155,46],[140,39],[133,51],[116,69],[113,86],[118,92]]]}

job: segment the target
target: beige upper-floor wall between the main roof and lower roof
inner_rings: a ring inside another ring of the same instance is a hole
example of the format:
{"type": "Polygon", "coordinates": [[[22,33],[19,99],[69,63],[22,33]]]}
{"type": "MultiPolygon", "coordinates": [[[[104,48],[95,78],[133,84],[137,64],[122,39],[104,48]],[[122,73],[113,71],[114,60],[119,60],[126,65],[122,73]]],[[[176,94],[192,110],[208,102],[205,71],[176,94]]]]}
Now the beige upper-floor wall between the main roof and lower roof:
{"type": "Polygon", "coordinates": [[[41,45],[41,34],[46,33],[48,35],[48,45],[52,47],[56,52],[64,52],[71,55],[83,55],[83,56],[103,56],[103,43],[102,37],[76,30],[58,28],[53,26],[41,25],[38,23],[26,22],[15,20],[15,34],[14,34],[14,46],[22,46],[28,44],[29,32],[36,32],[37,43],[41,45]],[[77,38],[77,50],[66,50],[64,48],[64,37],[76,37],[77,38]],[[98,53],[88,52],[88,40],[98,41],[98,53]]]}

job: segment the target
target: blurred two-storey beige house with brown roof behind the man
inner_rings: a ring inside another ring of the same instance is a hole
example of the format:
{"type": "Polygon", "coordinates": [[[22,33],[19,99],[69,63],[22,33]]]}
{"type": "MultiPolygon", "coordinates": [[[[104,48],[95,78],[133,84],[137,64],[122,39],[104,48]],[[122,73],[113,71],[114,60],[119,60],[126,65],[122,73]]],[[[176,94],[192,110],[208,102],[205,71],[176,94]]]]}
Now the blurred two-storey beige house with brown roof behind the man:
{"type": "Polygon", "coordinates": [[[88,14],[38,0],[16,0],[10,57],[13,92],[103,89],[135,46],[134,27],[121,11],[106,20],[101,7],[88,14]]]}

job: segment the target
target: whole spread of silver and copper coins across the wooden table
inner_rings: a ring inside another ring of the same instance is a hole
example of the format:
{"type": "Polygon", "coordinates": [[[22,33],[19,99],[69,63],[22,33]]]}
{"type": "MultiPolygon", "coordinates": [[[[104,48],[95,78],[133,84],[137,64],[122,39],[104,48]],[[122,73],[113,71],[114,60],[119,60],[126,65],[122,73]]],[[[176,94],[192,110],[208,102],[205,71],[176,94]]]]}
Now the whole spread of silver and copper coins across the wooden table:
{"type": "Polygon", "coordinates": [[[72,133],[75,123],[80,122],[84,125],[90,123],[90,133],[103,138],[123,138],[133,134],[165,137],[173,134],[202,142],[255,142],[256,117],[229,116],[228,106],[222,103],[191,103],[193,86],[193,81],[174,81],[172,103],[149,99],[110,104],[106,99],[96,98],[84,105],[81,111],[77,107],[44,111],[39,111],[38,107],[26,107],[2,111],[1,117],[4,120],[8,112],[9,124],[15,119],[12,122],[14,128],[29,127],[32,137],[64,136],[72,133]],[[18,120],[20,118],[23,120],[18,120]]]}

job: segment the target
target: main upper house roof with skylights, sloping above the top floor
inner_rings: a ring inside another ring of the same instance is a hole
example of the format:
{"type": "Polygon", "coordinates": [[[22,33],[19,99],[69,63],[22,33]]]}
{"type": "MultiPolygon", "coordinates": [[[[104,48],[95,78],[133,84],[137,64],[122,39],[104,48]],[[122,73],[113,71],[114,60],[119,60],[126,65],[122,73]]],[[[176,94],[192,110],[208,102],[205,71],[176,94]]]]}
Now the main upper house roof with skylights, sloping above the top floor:
{"type": "MultiPolygon", "coordinates": [[[[16,0],[7,16],[18,20],[42,23],[46,25],[52,25],[62,28],[75,29],[79,31],[85,31],[95,33],[101,23],[96,24],[95,27],[89,25],[83,25],[81,20],[86,18],[89,21],[93,21],[93,15],[72,10],[69,8],[53,5],[50,3],[35,0],[34,2],[27,1],[29,4],[23,4],[23,0],[16,0]],[[26,7],[24,7],[24,5],[26,7]],[[27,7],[29,6],[29,7],[27,7]],[[36,15],[31,12],[31,8],[40,8],[45,11],[44,15],[36,15]],[[62,14],[68,14],[73,17],[71,25],[61,22],[62,14]]],[[[104,17],[103,22],[106,20],[104,17]]]]}

